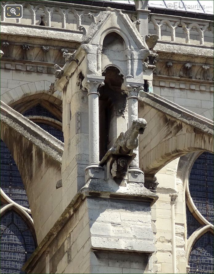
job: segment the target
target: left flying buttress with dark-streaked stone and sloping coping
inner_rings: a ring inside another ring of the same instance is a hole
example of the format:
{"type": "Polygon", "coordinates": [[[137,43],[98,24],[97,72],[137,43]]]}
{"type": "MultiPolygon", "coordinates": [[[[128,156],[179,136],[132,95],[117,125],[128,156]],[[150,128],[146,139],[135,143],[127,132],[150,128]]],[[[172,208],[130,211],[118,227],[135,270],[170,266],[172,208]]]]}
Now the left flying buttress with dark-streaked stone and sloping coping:
{"type": "Polygon", "coordinates": [[[63,212],[63,143],[1,101],[1,139],[10,149],[28,196],[40,243],[63,212]]]}

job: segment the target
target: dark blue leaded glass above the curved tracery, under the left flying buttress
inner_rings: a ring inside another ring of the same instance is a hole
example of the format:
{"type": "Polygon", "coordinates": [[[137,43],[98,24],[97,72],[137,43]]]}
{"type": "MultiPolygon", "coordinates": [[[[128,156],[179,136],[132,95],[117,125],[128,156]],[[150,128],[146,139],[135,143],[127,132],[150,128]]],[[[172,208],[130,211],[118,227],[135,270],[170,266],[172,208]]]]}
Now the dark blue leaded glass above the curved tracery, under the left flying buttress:
{"type": "Polygon", "coordinates": [[[29,208],[27,194],[18,167],[6,144],[0,141],[1,149],[1,188],[7,196],[23,207],[29,208]],[[7,159],[7,161],[5,161],[7,159]]]}

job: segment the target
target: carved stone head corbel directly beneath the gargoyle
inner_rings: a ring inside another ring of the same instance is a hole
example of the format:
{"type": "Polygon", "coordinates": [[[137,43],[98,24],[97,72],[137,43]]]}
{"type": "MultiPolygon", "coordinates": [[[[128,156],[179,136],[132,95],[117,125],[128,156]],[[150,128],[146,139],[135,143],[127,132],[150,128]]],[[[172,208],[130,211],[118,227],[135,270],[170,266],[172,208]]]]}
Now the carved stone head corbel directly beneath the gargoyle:
{"type": "Polygon", "coordinates": [[[108,178],[113,178],[120,186],[126,186],[128,180],[128,167],[132,156],[128,155],[110,155],[107,160],[108,178]]]}

